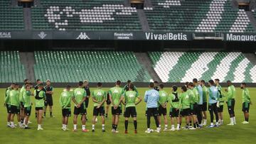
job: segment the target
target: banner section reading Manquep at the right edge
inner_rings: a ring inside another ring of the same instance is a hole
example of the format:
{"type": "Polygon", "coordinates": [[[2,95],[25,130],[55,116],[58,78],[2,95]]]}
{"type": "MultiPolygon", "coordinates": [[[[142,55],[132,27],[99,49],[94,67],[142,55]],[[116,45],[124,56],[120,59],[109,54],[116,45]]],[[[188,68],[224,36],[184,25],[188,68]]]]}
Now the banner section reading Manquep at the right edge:
{"type": "Polygon", "coordinates": [[[225,33],[225,41],[256,41],[256,33],[225,33]]]}

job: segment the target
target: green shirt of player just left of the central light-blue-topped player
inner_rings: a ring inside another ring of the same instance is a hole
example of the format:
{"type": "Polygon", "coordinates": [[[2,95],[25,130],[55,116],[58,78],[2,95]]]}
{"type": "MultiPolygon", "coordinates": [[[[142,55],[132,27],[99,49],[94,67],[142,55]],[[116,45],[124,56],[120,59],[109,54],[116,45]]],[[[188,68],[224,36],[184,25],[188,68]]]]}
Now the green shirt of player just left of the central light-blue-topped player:
{"type": "Polygon", "coordinates": [[[127,91],[124,93],[125,108],[135,106],[136,98],[139,94],[135,91],[127,91]]]}

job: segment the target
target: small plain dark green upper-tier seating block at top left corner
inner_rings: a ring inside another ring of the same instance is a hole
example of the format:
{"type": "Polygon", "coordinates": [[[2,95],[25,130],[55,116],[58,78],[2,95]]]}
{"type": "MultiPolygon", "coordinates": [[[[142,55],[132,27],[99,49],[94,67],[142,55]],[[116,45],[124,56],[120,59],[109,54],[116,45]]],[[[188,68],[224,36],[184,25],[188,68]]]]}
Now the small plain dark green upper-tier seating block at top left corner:
{"type": "Polygon", "coordinates": [[[0,0],[0,30],[23,30],[23,9],[22,7],[11,7],[11,3],[0,0]]]}

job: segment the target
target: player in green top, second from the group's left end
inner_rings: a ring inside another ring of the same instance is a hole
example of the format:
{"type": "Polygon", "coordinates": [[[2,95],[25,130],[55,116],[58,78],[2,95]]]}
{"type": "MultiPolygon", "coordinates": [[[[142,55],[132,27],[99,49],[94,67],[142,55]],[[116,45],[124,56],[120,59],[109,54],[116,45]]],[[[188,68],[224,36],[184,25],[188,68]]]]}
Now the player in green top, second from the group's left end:
{"type": "Polygon", "coordinates": [[[11,101],[11,128],[16,128],[14,126],[14,116],[16,114],[18,126],[23,128],[20,117],[20,102],[19,102],[19,92],[18,92],[18,84],[14,84],[14,89],[11,90],[9,94],[9,99],[11,101]]]}

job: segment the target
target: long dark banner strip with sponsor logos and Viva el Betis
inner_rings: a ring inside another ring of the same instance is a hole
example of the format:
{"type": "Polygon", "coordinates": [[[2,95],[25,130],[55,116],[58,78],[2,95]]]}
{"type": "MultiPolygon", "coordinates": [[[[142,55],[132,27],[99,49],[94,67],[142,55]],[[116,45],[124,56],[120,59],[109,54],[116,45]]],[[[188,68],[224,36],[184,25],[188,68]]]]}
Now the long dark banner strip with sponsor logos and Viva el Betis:
{"type": "Polygon", "coordinates": [[[27,40],[192,40],[193,33],[104,31],[11,31],[0,39],[27,40]]]}

